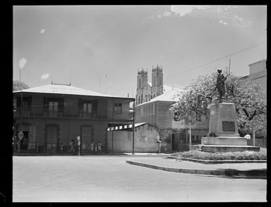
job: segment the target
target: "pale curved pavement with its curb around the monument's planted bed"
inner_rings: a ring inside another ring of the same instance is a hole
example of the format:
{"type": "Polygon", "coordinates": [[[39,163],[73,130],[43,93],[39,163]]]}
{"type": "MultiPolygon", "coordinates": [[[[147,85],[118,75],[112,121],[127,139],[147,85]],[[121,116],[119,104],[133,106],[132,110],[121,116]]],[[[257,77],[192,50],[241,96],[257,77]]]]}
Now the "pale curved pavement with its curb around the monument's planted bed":
{"type": "Polygon", "coordinates": [[[267,176],[267,163],[219,163],[204,164],[176,161],[167,156],[134,156],[127,163],[175,173],[229,176],[267,176]]]}

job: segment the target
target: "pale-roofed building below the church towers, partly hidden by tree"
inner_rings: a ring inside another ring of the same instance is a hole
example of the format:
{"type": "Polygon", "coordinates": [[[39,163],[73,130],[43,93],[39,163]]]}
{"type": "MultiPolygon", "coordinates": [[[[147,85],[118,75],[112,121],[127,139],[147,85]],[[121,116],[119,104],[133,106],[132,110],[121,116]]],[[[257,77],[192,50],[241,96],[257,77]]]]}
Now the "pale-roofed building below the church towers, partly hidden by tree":
{"type": "MultiPolygon", "coordinates": [[[[162,95],[135,107],[135,123],[146,122],[157,128],[162,152],[189,150],[189,123],[187,120],[174,121],[170,107],[179,100],[183,89],[171,88],[162,95]]],[[[208,120],[198,119],[191,123],[191,144],[201,144],[201,137],[208,134],[208,120]]]]}

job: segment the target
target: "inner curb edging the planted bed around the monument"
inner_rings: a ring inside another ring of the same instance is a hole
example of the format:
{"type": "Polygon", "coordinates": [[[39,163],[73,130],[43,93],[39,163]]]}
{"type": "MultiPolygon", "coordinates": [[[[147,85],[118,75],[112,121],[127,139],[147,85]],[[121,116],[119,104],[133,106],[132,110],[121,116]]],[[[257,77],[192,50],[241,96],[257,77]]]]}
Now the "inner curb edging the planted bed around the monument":
{"type": "MultiPolygon", "coordinates": [[[[177,159],[177,156],[167,156],[168,159],[177,159]]],[[[222,163],[267,163],[267,160],[203,160],[203,159],[191,159],[182,157],[184,161],[192,161],[203,164],[222,164],[222,163]]]]}

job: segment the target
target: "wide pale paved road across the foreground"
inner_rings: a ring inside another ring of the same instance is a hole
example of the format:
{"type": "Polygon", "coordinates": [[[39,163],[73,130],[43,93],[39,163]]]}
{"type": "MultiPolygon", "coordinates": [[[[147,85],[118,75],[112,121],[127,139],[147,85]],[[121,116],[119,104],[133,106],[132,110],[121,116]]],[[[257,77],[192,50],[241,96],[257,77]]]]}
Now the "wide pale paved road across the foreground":
{"type": "Polygon", "coordinates": [[[13,202],[265,202],[267,180],[172,173],[131,156],[13,156],[13,202]]]}

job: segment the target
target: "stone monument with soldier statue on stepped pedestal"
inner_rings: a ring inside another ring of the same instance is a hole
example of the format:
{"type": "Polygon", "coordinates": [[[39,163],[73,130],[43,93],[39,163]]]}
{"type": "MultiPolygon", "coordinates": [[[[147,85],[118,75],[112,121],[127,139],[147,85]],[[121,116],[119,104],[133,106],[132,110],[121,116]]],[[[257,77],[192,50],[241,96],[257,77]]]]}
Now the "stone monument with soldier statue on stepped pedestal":
{"type": "Polygon", "coordinates": [[[247,145],[246,138],[241,138],[237,129],[237,114],[235,104],[225,98],[225,80],[221,69],[218,69],[216,88],[220,98],[210,107],[209,133],[201,138],[202,152],[259,152],[260,147],[247,145]]]}

